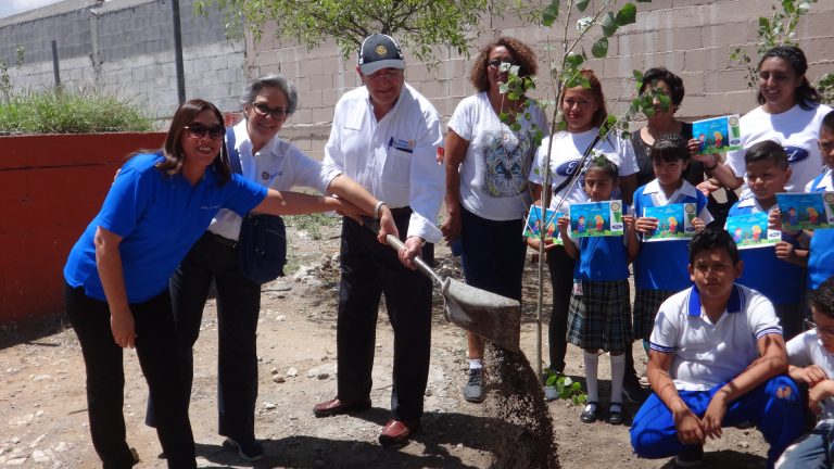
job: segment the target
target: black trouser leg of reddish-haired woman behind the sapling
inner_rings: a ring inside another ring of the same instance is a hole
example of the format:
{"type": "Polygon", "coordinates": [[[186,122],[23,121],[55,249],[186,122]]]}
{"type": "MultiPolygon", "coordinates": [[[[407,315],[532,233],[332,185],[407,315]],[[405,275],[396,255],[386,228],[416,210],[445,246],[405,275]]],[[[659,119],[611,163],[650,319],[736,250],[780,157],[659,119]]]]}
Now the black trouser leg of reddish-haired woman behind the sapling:
{"type": "Polygon", "coordinates": [[[547,269],[551,271],[553,290],[553,309],[547,328],[549,346],[549,368],[554,371],[565,371],[565,354],[568,352],[568,307],[570,293],[573,289],[573,261],[565,248],[557,246],[547,251],[547,269]]]}

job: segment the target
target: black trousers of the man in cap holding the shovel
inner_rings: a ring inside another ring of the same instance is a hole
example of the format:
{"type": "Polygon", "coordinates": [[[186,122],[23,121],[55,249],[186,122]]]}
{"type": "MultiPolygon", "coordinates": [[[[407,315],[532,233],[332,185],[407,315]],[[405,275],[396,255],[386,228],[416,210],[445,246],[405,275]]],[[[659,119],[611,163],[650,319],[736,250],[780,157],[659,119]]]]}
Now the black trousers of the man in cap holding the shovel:
{"type": "MultiPolygon", "coordinates": [[[[397,211],[396,228],[404,237],[410,211],[397,211]]],[[[422,248],[434,262],[434,245],[422,248]]],[[[377,313],[386,295],[394,329],[391,410],[396,420],[422,416],[431,346],[431,280],[400,263],[396,252],[377,241],[375,232],[350,218],[342,223],[342,278],[337,321],[338,396],[362,402],[370,395],[377,313]]]]}

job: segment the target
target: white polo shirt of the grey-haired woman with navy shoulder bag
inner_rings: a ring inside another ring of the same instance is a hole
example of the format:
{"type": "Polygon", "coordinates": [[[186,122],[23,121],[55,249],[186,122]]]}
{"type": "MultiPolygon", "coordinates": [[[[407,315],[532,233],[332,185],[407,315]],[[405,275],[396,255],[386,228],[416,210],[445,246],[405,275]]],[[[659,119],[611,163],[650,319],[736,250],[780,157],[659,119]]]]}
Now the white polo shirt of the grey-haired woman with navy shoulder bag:
{"type": "MultiPolygon", "coordinates": [[[[326,168],[321,163],[301,152],[292,143],[273,137],[264,148],[252,155],[252,142],[247,131],[247,121],[235,126],[235,148],[238,150],[242,176],[263,187],[285,191],[303,186],[327,193],[330,181],[340,170],[326,168]]],[[[208,230],[230,240],[238,240],[242,218],[232,211],[220,210],[208,230]]]]}

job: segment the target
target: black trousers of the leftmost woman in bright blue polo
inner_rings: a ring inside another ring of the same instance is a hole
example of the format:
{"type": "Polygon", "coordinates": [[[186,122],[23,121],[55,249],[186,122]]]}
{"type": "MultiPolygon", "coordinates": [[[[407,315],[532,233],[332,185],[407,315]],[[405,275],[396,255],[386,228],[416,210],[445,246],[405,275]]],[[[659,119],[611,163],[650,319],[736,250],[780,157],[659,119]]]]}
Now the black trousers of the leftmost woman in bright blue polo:
{"type": "MultiPolygon", "coordinates": [[[[87,368],[87,408],[92,445],[105,469],[129,468],[124,406],[125,372],[122,347],[113,340],[108,303],[89,297],[83,288],[64,283],[66,314],[81,344],[87,368]]],[[[169,468],[194,468],[194,438],[182,398],[176,356],[174,317],[168,292],[130,304],[136,325],[136,352],[159,409],[156,434],[169,468]]]]}

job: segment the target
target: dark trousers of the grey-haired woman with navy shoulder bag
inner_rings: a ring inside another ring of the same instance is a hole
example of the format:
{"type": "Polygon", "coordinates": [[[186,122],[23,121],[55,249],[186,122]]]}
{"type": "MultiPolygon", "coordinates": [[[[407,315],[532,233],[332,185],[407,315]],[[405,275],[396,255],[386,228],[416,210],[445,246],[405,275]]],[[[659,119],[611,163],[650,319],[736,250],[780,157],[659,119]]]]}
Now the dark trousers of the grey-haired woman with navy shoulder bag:
{"type": "MultiPolygon", "coordinates": [[[[218,433],[238,442],[255,440],[257,401],[257,318],[261,286],[240,275],[238,251],[206,231],[170,277],[179,365],[190,401],[194,375],[193,347],[200,335],[203,309],[214,279],[217,288],[217,410],[218,433]]],[[[147,423],[156,422],[148,402],[147,423]]]]}

